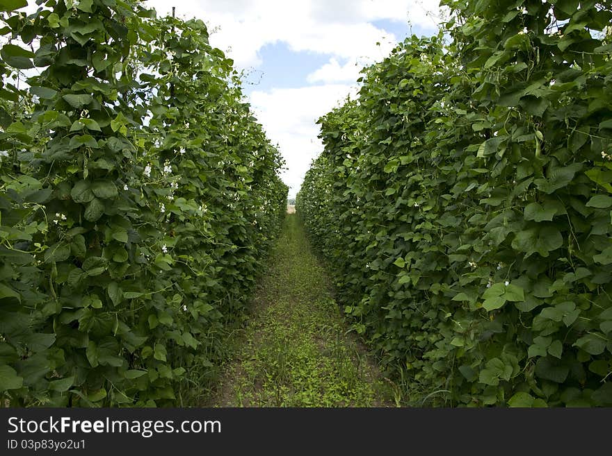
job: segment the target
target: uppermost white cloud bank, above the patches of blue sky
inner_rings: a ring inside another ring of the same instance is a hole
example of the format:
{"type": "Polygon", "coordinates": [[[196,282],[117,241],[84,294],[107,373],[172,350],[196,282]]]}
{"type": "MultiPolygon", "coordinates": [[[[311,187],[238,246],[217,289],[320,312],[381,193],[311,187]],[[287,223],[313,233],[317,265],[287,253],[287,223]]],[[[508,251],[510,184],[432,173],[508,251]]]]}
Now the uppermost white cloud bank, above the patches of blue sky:
{"type": "MultiPolygon", "coordinates": [[[[172,3],[147,0],[160,14],[169,14],[172,3]]],[[[393,35],[371,24],[389,19],[435,30],[436,20],[426,11],[437,11],[437,0],[192,0],[176,6],[179,17],[199,17],[214,29],[211,43],[226,51],[241,68],[261,64],[259,50],[284,42],[293,51],[332,54],[339,58],[370,57],[379,60],[390,50],[393,35]],[[385,44],[377,46],[376,42],[385,44]]]]}

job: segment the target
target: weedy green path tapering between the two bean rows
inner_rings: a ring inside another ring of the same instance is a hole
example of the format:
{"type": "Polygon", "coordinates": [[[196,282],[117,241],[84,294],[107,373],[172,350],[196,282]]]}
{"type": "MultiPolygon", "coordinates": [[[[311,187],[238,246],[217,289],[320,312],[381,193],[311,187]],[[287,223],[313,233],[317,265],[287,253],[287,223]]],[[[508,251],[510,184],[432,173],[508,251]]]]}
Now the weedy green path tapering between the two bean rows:
{"type": "Polygon", "coordinates": [[[296,214],[287,215],[251,312],[208,406],[391,405],[376,365],[346,333],[296,214]]]}

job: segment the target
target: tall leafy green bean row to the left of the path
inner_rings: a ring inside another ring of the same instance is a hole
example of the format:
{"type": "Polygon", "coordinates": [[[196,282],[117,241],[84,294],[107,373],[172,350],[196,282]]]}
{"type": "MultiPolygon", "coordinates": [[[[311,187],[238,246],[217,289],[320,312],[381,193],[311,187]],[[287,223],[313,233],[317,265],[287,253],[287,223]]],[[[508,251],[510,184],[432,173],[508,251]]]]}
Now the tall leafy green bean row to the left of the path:
{"type": "Polygon", "coordinates": [[[195,405],[285,212],[200,20],[0,1],[0,400],[195,405]]]}

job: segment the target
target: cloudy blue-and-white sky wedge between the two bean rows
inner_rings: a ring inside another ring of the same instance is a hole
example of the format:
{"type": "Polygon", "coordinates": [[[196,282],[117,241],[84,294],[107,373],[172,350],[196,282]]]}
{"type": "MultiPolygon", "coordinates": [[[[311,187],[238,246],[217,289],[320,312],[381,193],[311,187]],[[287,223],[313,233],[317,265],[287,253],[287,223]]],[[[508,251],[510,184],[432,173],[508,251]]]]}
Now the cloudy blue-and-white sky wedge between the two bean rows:
{"type": "MultiPolygon", "coordinates": [[[[172,3],[146,0],[159,15],[172,3]]],[[[323,150],[316,119],[356,96],[359,71],[406,36],[432,35],[438,0],[190,0],[177,16],[209,25],[210,42],[245,72],[244,92],[286,162],[289,196],[323,150]]]]}

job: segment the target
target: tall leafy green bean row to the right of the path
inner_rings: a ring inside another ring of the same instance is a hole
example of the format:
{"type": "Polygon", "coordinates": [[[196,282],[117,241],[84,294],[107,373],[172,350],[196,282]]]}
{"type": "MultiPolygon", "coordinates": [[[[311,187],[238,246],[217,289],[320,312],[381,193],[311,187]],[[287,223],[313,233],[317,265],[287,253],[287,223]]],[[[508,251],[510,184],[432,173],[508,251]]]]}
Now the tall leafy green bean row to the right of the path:
{"type": "Polygon", "coordinates": [[[612,8],[442,1],[322,117],[298,213],[409,405],[612,405],[612,8]]]}

